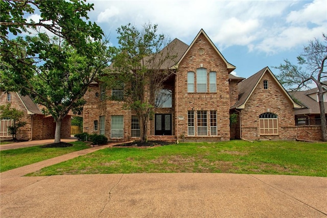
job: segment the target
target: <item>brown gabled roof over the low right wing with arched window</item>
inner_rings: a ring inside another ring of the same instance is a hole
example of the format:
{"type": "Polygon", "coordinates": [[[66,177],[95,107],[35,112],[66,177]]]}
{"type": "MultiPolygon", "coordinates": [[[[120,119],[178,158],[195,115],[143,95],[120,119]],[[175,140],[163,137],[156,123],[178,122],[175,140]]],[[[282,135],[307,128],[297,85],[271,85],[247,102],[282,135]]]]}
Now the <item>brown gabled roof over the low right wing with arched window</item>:
{"type": "Polygon", "coordinates": [[[260,83],[262,77],[265,74],[270,74],[271,77],[275,80],[275,82],[277,83],[277,85],[281,88],[281,90],[285,93],[285,95],[287,96],[287,98],[292,102],[293,107],[294,108],[301,108],[300,105],[296,104],[293,99],[291,98],[291,96],[288,94],[288,92],[284,89],[284,87],[282,86],[281,83],[279,83],[279,81],[277,80],[277,78],[273,75],[273,73],[271,72],[271,70],[269,69],[269,67],[265,67],[262,70],[260,70],[259,72],[256,72],[256,74],[252,75],[251,77],[249,77],[246,80],[243,80],[242,82],[239,83],[239,101],[235,103],[235,105],[233,105],[231,107],[231,109],[244,109],[245,108],[245,104],[246,102],[249,100],[251,94],[253,93],[253,91],[255,90],[256,86],[258,86],[258,84],[260,83]]]}

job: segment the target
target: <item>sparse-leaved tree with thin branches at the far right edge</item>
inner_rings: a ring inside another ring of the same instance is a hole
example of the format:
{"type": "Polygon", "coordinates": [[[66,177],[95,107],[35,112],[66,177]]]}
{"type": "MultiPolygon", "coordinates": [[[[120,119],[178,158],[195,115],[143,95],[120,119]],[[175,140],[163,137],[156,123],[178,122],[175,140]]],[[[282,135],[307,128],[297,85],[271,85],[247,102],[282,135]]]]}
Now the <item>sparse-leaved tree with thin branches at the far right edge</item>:
{"type": "Polygon", "coordinates": [[[298,65],[292,64],[289,60],[284,60],[285,64],[275,67],[281,71],[277,76],[290,90],[299,90],[303,87],[308,87],[314,82],[318,88],[318,100],[320,107],[321,118],[321,135],[322,140],[327,141],[327,127],[325,108],[323,104],[323,86],[327,85],[326,70],[327,65],[327,36],[322,35],[324,41],[318,39],[309,41],[309,44],[304,47],[303,53],[297,57],[298,65]],[[301,66],[304,66],[302,68],[301,66]]]}

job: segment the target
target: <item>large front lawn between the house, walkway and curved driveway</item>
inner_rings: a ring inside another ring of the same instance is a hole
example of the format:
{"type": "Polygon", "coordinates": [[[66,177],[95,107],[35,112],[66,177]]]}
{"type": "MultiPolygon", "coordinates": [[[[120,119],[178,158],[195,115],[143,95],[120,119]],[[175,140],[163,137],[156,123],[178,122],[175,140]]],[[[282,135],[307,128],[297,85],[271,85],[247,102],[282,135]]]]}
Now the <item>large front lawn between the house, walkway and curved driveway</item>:
{"type": "Polygon", "coordinates": [[[30,176],[117,173],[237,173],[327,177],[327,143],[297,141],[180,143],[108,148],[30,176]]]}

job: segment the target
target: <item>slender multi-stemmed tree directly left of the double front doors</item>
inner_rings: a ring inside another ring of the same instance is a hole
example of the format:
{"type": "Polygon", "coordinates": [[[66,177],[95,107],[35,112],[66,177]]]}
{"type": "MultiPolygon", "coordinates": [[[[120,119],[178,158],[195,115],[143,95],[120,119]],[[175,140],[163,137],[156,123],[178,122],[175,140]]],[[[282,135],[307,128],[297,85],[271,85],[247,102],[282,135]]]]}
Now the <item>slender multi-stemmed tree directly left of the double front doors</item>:
{"type": "Polygon", "coordinates": [[[164,66],[176,55],[168,40],[157,34],[157,25],[146,24],[138,30],[130,23],[118,28],[119,47],[115,48],[111,73],[102,79],[107,87],[124,83],[124,102],[135,112],[141,127],[141,140],[147,141],[149,118],[156,104],[156,94],[173,74],[164,66]],[[165,47],[165,49],[164,49],[165,47]]]}

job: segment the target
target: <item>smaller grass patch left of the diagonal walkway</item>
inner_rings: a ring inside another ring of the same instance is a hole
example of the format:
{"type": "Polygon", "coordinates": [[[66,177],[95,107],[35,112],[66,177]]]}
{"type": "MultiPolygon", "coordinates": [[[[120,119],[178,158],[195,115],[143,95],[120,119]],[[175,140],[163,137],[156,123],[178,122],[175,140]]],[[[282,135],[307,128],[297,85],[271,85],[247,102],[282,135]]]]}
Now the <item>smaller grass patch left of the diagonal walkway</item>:
{"type": "Polygon", "coordinates": [[[75,141],[71,143],[74,146],[67,148],[40,148],[40,146],[34,146],[1,151],[0,172],[89,148],[85,142],[75,141]]]}

